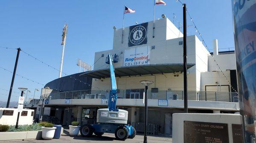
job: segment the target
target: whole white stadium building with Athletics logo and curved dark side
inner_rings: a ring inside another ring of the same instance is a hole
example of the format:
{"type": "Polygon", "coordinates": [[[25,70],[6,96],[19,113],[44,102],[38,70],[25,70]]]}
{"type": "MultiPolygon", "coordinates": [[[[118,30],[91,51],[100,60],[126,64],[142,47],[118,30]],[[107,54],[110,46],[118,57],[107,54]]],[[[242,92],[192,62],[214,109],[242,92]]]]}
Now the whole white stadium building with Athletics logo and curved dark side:
{"type": "MultiPolygon", "coordinates": [[[[95,53],[93,70],[46,84],[37,117],[62,125],[95,123],[97,109],[108,104],[111,81],[105,61],[109,53],[118,58],[114,64],[117,106],[128,111],[128,123],[143,132],[145,87],[140,81],[154,81],[148,88],[148,133],[172,135],[172,114],[183,112],[184,106],[183,34],[166,17],[155,20],[154,28],[153,21],[114,28],[113,49],[95,53]]],[[[189,112],[239,111],[235,61],[234,51],[218,52],[217,40],[209,53],[196,35],[187,37],[189,112]]]]}

